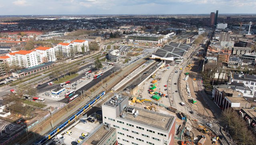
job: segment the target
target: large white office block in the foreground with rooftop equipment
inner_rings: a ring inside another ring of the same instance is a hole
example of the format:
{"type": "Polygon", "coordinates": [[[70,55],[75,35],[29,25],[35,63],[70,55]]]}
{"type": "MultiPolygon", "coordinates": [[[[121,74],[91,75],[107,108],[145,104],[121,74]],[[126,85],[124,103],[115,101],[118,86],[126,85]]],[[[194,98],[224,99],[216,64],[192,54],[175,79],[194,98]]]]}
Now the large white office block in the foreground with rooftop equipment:
{"type": "Polygon", "coordinates": [[[173,145],[175,117],[129,106],[115,95],[102,105],[103,123],[116,129],[118,145],[173,145]]]}

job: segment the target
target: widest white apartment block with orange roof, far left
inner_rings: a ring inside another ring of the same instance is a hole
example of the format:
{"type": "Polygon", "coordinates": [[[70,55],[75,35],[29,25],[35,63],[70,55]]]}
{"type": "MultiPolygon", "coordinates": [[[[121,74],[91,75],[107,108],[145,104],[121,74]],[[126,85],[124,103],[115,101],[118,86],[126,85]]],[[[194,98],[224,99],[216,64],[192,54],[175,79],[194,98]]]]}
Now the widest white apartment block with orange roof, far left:
{"type": "Polygon", "coordinates": [[[38,60],[40,60],[37,52],[34,50],[20,50],[17,52],[8,53],[6,56],[9,56],[11,59],[9,66],[16,65],[28,68],[38,65],[38,60]]]}

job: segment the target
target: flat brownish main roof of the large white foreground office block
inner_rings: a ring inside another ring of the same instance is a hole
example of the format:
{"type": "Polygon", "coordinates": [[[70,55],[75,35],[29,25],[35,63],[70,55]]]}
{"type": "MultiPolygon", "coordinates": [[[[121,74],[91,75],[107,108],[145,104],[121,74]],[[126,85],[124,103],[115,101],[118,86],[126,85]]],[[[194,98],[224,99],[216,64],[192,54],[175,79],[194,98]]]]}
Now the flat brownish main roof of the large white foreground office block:
{"type": "Polygon", "coordinates": [[[175,121],[174,116],[165,115],[155,111],[149,111],[147,109],[141,109],[134,106],[128,106],[128,107],[135,109],[135,111],[139,111],[139,115],[137,115],[137,117],[134,117],[133,114],[127,113],[124,109],[122,111],[122,114],[125,114],[125,117],[123,119],[134,121],[139,124],[156,127],[156,128],[167,131],[171,126],[171,124],[173,123],[173,121],[175,121]]]}

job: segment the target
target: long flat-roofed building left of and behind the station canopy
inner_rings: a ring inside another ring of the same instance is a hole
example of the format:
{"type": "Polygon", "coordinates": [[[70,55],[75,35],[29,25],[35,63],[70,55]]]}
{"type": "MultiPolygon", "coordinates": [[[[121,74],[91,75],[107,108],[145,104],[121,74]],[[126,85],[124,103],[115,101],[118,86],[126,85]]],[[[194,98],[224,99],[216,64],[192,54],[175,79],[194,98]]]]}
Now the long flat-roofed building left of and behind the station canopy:
{"type": "Polygon", "coordinates": [[[128,42],[148,42],[148,43],[161,43],[165,35],[162,34],[130,34],[127,37],[128,42]]]}

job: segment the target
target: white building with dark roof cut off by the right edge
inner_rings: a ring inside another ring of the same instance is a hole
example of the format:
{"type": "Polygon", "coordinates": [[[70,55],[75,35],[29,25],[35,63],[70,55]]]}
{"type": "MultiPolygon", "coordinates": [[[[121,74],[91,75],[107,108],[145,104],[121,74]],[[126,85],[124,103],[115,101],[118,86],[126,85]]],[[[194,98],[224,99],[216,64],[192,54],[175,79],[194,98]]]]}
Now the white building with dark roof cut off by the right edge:
{"type": "Polygon", "coordinates": [[[245,87],[251,90],[251,96],[256,97],[256,76],[255,75],[245,75],[240,73],[230,73],[229,84],[243,83],[245,87]]]}

